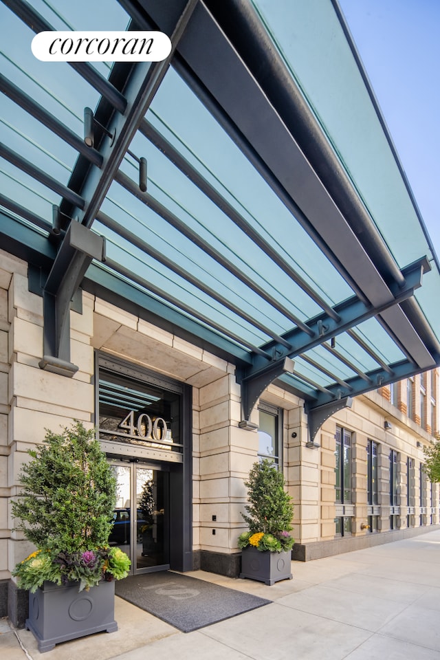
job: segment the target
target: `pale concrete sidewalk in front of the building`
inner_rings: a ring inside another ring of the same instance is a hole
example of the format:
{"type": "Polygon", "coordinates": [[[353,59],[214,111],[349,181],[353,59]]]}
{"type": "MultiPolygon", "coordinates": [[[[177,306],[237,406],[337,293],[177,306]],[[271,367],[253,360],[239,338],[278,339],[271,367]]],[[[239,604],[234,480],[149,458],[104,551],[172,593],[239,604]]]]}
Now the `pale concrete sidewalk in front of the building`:
{"type": "MultiPolygon", "coordinates": [[[[116,598],[119,630],[40,654],[28,630],[0,619],[3,660],[440,660],[440,531],[316,560],[265,586],[194,577],[273,602],[184,634],[116,598]]],[[[184,606],[184,605],[183,605],[184,606]]]]}

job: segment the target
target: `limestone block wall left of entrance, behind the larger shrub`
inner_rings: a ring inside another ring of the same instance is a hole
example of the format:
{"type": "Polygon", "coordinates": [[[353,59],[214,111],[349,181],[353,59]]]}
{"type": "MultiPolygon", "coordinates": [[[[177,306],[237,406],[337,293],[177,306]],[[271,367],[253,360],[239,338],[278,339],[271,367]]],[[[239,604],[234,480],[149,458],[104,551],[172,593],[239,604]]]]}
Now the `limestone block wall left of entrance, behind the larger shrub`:
{"type": "MultiPolygon", "coordinates": [[[[3,452],[8,461],[6,483],[8,521],[8,565],[5,577],[32,549],[21,533],[11,531],[14,521],[10,503],[19,492],[18,478],[23,463],[28,461],[28,449],[41,443],[45,428],[59,430],[80,419],[91,426],[94,415],[94,351],[91,347],[91,296],[83,295],[83,313],[70,313],[71,356],[78,373],[71,379],[42,371],[43,299],[28,290],[27,265],[10,257],[8,296],[8,432],[3,452]],[[12,266],[12,267],[11,267],[12,266]]],[[[5,262],[3,262],[3,265],[5,262]]],[[[4,298],[4,294],[3,294],[4,298]]],[[[3,458],[3,457],[2,457],[3,458]]],[[[5,510],[3,503],[2,510],[5,510]]],[[[2,558],[6,553],[1,553],[2,558]]],[[[1,561],[1,560],[0,560],[1,561]]],[[[0,577],[3,573],[0,573],[0,577]]]]}

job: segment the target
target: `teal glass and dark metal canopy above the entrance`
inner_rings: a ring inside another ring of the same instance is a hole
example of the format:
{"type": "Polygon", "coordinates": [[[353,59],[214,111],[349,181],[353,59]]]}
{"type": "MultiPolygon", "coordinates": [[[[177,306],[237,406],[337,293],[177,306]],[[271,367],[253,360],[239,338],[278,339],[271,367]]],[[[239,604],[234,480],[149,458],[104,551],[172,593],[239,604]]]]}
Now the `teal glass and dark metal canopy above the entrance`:
{"type": "Polygon", "coordinates": [[[76,371],[78,287],[234,362],[243,420],[270,382],[326,415],[440,364],[439,262],[336,0],[3,0],[0,19],[0,239],[43,295],[42,369],[76,371]],[[173,50],[30,51],[96,29],[173,50]]]}

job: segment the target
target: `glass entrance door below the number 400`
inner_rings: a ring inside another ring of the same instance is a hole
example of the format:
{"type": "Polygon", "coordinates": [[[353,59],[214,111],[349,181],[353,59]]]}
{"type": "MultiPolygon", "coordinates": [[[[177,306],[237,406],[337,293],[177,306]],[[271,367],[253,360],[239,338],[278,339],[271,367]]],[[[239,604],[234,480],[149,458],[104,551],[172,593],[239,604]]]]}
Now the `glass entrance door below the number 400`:
{"type": "Polygon", "coordinates": [[[109,542],[131,559],[131,573],[169,569],[168,472],[110,461],[116,507],[109,542]]]}

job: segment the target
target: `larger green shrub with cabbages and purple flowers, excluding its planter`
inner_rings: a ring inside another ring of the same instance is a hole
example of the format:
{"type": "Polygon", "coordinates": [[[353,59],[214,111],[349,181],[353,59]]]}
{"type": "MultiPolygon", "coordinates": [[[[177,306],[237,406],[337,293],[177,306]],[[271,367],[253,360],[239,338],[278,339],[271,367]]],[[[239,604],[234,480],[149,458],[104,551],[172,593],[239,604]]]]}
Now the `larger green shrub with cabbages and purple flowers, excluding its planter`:
{"type": "Polygon", "coordinates": [[[12,571],[19,587],[34,592],[46,581],[75,581],[82,591],[126,577],[129,558],[108,544],[115,479],[93,430],[77,422],[61,434],[47,431],[29,454],[12,513],[36,551],[12,571]]]}

